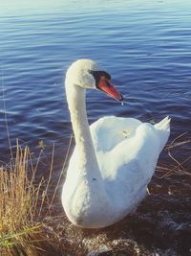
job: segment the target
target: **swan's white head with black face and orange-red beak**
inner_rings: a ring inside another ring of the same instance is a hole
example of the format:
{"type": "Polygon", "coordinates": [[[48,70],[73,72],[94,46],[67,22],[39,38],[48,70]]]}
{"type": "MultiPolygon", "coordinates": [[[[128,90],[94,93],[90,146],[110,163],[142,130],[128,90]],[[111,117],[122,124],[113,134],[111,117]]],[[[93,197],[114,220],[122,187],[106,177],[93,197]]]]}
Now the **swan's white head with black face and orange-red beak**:
{"type": "Polygon", "coordinates": [[[66,84],[78,85],[85,89],[99,89],[117,101],[122,101],[122,95],[111,82],[111,76],[91,59],[78,59],[66,73],[66,84]]]}

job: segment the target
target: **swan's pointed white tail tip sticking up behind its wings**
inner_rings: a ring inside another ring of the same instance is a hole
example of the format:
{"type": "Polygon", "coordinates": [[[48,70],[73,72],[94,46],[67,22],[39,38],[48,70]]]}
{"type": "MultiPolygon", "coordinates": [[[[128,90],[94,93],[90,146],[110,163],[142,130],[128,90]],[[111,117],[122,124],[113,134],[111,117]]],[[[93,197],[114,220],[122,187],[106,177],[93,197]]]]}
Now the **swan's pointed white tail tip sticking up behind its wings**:
{"type": "Polygon", "coordinates": [[[167,116],[154,126],[159,135],[160,151],[164,148],[170,135],[170,121],[171,119],[167,116]]]}

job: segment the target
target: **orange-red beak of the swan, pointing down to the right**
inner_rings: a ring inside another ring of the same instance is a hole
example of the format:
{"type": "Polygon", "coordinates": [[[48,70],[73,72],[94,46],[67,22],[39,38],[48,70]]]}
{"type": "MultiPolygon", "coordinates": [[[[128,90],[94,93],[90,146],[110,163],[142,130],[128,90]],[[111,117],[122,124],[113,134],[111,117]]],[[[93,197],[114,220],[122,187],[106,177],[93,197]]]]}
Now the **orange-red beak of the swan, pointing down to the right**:
{"type": "Polygon", "coordinates": [[[106,92],[110,97],[116,99],[117,101],[123,100],[122,95],[117,91],[117,89],[111,83],[111,81],[107,80],[104,77],[100,78],[97,84],[97,88],[100,89],[101,91],[106,92]]]}

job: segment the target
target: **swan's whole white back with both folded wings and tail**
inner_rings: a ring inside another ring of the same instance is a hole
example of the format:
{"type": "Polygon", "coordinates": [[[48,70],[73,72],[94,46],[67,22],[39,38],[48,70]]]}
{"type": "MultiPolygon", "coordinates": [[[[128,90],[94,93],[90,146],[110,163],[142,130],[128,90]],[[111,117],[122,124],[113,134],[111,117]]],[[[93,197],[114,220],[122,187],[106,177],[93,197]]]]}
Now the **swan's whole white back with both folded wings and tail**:
{"type": "Polygon", "coordinates": [[[118,212],[126,215],[145,197],[170,133],[169,122],[165,118],[153,126],[111,116],[91,126],[100,172],[118,212]]]}

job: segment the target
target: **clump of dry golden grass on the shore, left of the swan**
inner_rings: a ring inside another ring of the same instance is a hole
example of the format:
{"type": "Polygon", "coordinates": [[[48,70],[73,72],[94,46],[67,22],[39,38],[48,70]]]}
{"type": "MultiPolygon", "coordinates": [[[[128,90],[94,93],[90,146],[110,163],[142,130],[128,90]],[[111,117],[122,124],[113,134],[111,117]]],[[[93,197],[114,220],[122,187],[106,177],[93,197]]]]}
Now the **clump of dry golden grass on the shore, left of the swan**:
{"type": "Polygon", "coordinates": [[[35,184],[38,162],[34,167],[29,148],[17,145],[10,168],[0,168],[0,255],[46,255],[49,248],[40,217],[53,166],[49,180],[35,184]]]}

